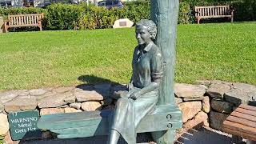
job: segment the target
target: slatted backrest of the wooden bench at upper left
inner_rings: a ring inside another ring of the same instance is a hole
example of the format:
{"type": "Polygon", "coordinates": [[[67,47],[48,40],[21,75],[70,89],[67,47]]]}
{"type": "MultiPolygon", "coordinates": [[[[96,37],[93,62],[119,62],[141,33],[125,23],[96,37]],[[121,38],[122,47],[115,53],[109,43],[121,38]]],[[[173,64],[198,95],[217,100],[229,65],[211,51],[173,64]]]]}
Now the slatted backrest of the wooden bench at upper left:
{"type": "Polygon", "coordinates": [[[43,14],[9,15],[9,26],[38,26],[43,17],[43,14]]]}

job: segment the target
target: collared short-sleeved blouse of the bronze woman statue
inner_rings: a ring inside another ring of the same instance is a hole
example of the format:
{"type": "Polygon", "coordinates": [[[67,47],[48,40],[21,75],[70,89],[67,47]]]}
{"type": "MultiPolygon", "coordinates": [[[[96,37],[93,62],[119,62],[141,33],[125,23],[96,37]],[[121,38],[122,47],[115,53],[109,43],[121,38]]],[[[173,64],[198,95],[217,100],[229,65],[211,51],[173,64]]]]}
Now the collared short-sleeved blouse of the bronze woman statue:
{"type": "Polygon", "coordinates": [[[132,82],[135,87],[143,88],[162,78],[162,54],[154,42],[142,49],[137,46],[134,50],[132,61],[133,76],[132,82]]]}

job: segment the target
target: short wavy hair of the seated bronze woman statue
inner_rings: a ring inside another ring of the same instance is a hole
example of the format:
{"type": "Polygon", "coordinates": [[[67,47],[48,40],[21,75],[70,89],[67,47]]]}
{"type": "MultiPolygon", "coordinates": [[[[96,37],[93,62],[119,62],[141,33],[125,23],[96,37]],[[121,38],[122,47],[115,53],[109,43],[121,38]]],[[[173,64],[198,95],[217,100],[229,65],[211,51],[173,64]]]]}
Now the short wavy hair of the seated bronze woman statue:
{"type": "Polygon", "coordinates": [[[155,37],[157,36],[157,26],[152,20],[142,19],[136,24],[136,28],[138,26],[146,26],[148,32],[151,35],[151,39],[155,39],[155,37]]]}

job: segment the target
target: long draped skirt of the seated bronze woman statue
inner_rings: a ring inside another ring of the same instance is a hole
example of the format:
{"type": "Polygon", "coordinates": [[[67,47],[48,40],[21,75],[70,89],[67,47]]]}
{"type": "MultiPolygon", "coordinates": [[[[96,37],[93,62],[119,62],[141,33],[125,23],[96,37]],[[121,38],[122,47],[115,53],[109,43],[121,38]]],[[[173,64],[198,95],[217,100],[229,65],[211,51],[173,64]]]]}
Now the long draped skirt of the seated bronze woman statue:
{"type": "Polygon", "coordinates": [[[118,99],[111,127],[117,130],[129,144],[136,144],[136,129],[139,122],[141,122],[146,114],[154,110],[158,102],[158,90],[142,94],[136,100],[128,98],[131,93],[138,90],[140,89],[134,88],[126,96],[118,99]]]}

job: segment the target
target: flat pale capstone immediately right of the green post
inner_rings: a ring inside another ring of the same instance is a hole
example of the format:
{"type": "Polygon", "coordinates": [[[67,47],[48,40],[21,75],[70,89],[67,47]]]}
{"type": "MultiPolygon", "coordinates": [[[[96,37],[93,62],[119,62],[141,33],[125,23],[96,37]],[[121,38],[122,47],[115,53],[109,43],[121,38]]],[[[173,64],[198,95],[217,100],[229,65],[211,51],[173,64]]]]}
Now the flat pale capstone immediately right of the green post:
{"type": "Polygon", "coordinates": [[[174,91],[178,98],[198,98],[206,93],[206,86],[175,83],[174,91]]]}

